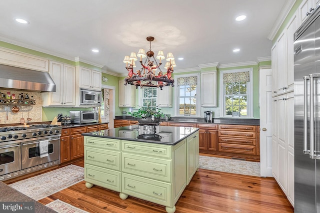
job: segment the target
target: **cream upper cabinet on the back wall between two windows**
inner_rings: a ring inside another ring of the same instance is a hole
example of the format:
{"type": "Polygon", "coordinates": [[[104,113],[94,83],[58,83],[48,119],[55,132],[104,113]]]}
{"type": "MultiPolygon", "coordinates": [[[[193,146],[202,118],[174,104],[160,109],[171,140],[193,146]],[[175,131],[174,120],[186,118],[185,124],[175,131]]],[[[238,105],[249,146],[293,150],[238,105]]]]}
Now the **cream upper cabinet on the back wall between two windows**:
{"type": "Polygon", "coordinates": [[[201,72],[201,107],[216,106],[216,71],[201,72]]]}

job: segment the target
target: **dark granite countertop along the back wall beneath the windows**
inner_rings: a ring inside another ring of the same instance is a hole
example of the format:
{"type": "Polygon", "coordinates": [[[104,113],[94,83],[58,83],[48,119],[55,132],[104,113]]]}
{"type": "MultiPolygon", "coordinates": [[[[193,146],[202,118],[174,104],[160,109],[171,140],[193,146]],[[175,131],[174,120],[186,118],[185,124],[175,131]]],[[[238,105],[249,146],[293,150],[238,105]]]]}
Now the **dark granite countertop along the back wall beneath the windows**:
{"type": "MultiPolygon", "coordinates": [[[[115,116],[115,119],[119,120],[136,120],[132,116],[123,115],[115,116]]],[[[183,118],[183,117],[171,117],[170,120],[162,120],[165,122],[181,122],[181,123],[205,123],[204,118],[183,118]]],[[[212,124],[235,124],[235,125],[260,125],[260,119],[250,118],[214,118],[212,124]]]]}

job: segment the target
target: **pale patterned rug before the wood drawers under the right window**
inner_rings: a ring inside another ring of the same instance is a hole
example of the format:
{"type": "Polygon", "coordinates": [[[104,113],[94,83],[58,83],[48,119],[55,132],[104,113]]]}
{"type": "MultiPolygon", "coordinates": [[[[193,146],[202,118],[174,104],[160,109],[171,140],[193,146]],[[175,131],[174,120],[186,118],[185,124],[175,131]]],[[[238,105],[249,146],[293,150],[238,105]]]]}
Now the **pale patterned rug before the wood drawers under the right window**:
{"type": "Polygon", "coordinates": [[[226,158],[199,156],[199,168],[260,177],[260,163],[226,158]]]}

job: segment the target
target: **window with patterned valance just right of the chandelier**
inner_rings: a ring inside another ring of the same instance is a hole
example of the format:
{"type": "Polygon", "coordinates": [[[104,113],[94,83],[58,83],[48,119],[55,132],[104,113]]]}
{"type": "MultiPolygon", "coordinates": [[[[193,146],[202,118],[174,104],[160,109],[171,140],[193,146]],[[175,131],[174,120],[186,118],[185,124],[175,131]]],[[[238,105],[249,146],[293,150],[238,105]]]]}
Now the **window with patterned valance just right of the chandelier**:
{"type": "Polygon", "coordinates": [[[176,75],[176,116],[199,116],[199,101],[196,96],[199,85],[199,74],[176,75]]]}

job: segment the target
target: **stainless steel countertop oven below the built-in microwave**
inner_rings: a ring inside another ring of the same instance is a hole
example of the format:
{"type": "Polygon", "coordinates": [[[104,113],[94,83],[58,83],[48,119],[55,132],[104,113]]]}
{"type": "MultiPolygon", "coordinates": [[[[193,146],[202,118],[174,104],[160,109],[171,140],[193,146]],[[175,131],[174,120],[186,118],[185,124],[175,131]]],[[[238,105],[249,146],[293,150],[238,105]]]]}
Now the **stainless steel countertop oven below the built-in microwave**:
{"type": "Polygon", "coordinates": [[[69,111],[70,120],[73,124],[97,123],[99,121],[97,111],[69,111]]]}

